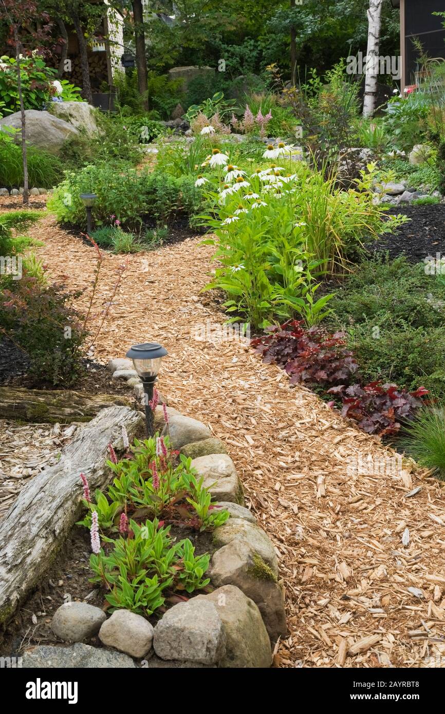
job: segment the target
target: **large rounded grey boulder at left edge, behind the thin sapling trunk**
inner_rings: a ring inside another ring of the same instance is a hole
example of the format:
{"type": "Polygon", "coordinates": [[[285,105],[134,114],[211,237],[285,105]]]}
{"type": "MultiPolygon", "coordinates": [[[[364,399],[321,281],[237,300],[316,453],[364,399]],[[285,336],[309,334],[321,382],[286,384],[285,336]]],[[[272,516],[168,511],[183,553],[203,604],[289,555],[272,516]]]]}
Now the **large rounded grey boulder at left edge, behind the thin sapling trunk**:
{"type": "MultiPolygon", "coordinates": [[[[51,154],[59,154],[62,144],[66,139],[79,136],[79,131],[68,121],[59,119],[49,111],[37,111],[36,109],[26,109],[26,139],[33,146],[49,151],[51,154]]],[[[0,119],[1,129],[8,131],[7,127],[21,129],[21,114],[9,114],[0,119]]],[[[14,141],[19,144],[21,141],[21,131],[14,133],[14,141]]]]}

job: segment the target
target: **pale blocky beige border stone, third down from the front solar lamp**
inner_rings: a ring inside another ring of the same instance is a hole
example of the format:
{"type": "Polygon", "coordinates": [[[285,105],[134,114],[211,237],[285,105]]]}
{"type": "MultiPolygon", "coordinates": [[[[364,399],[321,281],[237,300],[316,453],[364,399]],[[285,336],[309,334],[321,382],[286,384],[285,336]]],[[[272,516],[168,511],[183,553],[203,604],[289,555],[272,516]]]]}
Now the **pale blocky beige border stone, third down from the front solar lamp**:
{"type": "Polygon", "coordinates": [[[211,453],[199,456],[191,462],[198,476],[204,478],[204,487],[209,488],[216,501],[232,501],[244,505],[243,489],[234,462],[226,453],[211,453]]]}

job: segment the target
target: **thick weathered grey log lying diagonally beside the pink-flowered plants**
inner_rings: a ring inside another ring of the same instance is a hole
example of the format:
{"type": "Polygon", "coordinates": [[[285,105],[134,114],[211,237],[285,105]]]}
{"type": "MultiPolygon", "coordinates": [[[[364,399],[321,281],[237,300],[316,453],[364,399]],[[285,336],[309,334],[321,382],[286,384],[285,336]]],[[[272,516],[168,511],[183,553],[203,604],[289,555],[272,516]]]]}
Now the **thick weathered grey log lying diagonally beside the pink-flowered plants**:
{"type": "Polygon", "coordinates": [[[61,452],[59,462],[30,481],[0,521],[0,623],[6,622],[49,568],[82,511],[84,473],[91,493],[111,481],[107,446],[124,448],[143,429],[141,413],[128,407],[103,409],[61,452]]]}

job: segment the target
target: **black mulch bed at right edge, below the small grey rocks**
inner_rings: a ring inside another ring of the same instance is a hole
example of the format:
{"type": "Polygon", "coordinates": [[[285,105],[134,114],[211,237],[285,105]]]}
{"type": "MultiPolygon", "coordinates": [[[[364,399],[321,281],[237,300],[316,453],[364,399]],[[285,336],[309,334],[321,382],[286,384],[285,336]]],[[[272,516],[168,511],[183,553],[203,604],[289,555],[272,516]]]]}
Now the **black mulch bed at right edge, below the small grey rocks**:
{"type": "Polygon", "coordinates": [[[390,258],[405,253],[411,263],[427,256],[445,254],[445,203],[431,206],[401,206],[390,208],[389,214],[404,213],[411,218],[394,233],[386,233],[369,247],[371,253],[388,251],[390,258]]]}

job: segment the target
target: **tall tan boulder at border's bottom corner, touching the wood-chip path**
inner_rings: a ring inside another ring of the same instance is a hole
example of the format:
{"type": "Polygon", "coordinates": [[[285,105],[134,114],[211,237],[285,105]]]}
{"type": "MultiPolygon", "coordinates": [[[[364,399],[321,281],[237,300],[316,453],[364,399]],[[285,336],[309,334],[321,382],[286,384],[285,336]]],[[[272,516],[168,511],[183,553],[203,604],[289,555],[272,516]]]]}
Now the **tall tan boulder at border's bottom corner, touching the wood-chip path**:
{"type": "Polygon", "coordinates": [[[261,613],[254,601],[234,585],[224,585],[210,595],[197,595],[218,610],[226,633],[226,654],[221,668],[267,668],[271,665],[271,643],[261,613]]]}

